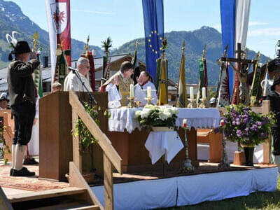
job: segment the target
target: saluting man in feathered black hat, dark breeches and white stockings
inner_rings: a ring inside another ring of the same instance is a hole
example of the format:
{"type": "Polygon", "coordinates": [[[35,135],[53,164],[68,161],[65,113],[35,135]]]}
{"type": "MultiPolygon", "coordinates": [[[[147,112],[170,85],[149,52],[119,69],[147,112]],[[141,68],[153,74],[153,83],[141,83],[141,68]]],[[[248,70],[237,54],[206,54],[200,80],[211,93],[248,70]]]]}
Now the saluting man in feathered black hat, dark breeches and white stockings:
{"type": "Polygon", "coordinates": [[[36,87],[31,74],[40,62],[26,41],[18,41],[13,48],[9,59],[13,59],[12,54],[15,54],[15,59],[9,64],[7,75],[10,108],[15,121],[10,176],[34,176],[34,172],[22,167],[22,162],[35,116],[36,87]],[[27,62],[29,58],[30,61],[27,62]]]}

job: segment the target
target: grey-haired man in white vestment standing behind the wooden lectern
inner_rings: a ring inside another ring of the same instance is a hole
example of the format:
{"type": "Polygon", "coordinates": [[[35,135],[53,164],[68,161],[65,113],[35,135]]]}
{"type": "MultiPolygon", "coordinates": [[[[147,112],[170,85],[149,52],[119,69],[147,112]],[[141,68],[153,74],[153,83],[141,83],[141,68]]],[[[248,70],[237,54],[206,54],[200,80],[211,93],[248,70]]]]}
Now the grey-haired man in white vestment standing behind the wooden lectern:
{"type": "Polygon", "coordinates": [[[86,76],[88,71],[90,71],[90,61],[85,57],[80,57],[77,62],[78,71],[69,72],[64,80],[64,91],[75,91],[75,92],[86,92],[89,90],[92,92],[92,87],[90,87],[90,82],[87,80],[86,76]],[[87,90],[85,87],[87,87],[87,90]]]}

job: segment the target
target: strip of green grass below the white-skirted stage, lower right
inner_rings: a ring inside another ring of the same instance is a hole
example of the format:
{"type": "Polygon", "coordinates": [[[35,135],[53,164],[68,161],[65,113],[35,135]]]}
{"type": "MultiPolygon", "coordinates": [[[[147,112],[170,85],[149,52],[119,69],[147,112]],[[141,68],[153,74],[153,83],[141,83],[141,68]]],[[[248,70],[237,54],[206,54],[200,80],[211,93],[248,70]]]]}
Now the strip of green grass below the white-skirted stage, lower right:
{"type": "MultiPolygon", "coordinates": [[[[277,182],[276,192],[251,193],[248,196],[231,199],[203,202],[192,206],[167,208],[168,210],[215,210],[215,209],[280,209],[280,179],[277,182]]],[[[165,210],[167,210],[165,209],[165,210]]]]}

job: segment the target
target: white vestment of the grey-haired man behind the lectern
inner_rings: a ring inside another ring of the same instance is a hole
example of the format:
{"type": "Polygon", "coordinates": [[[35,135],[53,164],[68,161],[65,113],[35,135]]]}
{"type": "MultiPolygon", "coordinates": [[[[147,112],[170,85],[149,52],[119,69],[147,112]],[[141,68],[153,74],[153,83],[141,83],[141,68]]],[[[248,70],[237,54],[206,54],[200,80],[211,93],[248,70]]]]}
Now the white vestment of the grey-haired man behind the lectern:
{"type": "MultiPolygon", "coordinates": [[[[78,72],[78,71],[76,71],[78,72]]],[[[90,83],[87,80],[87,78],[85,78],[85,76],[83,76],[83,74],[78,72],[78,75],[80,76],[80,79],[83,81],[85,87],[87,87],[87,89],[92,92],[92,87],[90,87],[90,83]]],[[[85,90],[85,87],[83,87],[83,84],[80,82],[80,79],[78,78],[78,76],[76,76],[75,73],[73,73],[72,71],[70,73],[68,73],[68,75],[66,76],[65,80],[64,80],[64,91],[75,91],[75,92],[86,92],[87,90],[85,90]]]]}

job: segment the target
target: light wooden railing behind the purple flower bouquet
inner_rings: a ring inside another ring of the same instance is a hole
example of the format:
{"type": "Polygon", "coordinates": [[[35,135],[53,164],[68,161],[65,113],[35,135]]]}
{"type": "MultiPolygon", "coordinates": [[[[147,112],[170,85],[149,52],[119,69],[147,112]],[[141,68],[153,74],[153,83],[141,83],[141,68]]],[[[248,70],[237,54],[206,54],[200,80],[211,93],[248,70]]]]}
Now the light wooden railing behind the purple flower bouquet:
{"type": "MultiPolygon", "coordinates": [[[[255,113],[264,113],[267,114],[270,111],[270,101],[268,100],[264,100],[262,101],[262,106],[260,107],[251,107],[251,109],[255,112],[255,113]]],[[[219,108],[219,111],[222,115],[222,113],[224,113],[226,110],[225,108],[219,108]]],[[[269,137],[267,138],[267,141],[265,141],[265,143],[263,144],[263,163],[270,163],[270,153],[271,153],[271,136],[269,135],[269,137]]]]}

